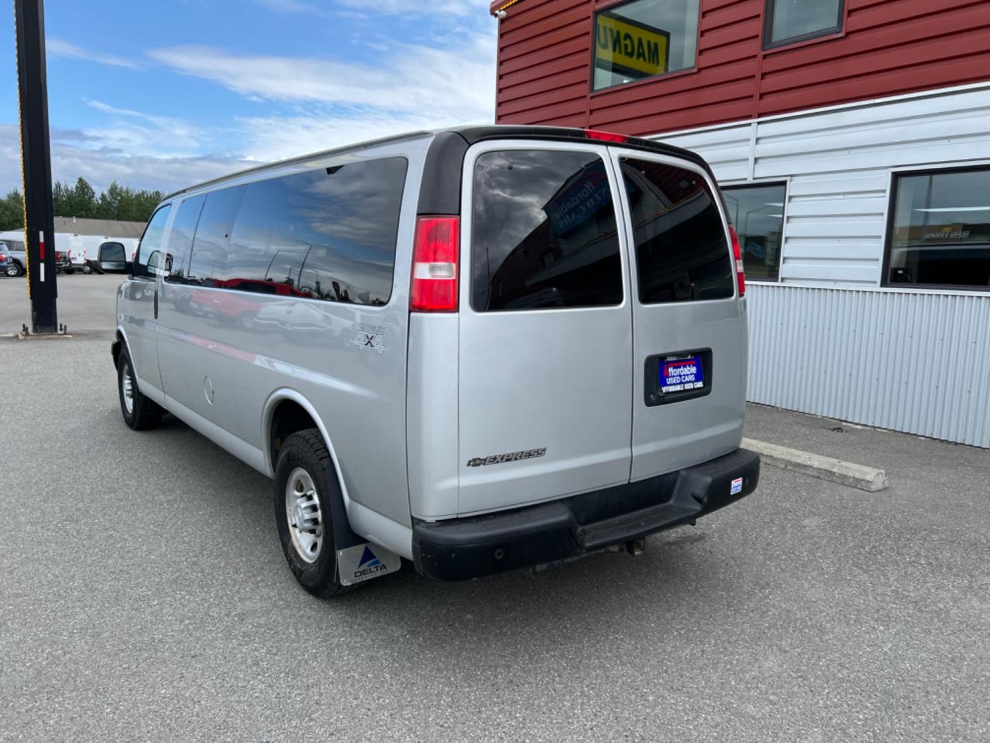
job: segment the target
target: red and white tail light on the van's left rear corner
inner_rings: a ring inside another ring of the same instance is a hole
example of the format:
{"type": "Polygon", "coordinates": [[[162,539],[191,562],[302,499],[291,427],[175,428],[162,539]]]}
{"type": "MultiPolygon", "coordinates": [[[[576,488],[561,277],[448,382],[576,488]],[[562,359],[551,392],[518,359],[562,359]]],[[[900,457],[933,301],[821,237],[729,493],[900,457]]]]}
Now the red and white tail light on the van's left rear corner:
{"type": "Polygon", "coordinates": [[[420,217],[416,221],[414,312],[457,311],[457,217],[420,217]]]}

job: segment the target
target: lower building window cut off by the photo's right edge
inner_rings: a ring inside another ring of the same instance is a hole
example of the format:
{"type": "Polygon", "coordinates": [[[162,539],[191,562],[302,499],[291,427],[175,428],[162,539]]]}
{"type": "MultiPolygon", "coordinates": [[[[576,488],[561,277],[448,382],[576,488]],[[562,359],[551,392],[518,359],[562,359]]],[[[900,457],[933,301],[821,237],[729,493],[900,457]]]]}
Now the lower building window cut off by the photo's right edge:
{"type": "Polygon", "coordinates": [[[990,288],[990,168],[894,176],[888,284],[990,288]]]}

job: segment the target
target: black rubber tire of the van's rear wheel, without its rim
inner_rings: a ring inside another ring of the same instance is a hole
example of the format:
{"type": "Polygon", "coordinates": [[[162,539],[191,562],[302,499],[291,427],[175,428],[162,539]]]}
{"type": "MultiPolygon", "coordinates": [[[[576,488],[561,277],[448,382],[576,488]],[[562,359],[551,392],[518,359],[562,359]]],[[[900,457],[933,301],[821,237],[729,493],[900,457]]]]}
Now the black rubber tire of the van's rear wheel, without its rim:
{"type": "Polygon", "coordinates": [[[337,568],[337,547],[334,544],[334,527],[331,521],[330,498],[341,497],[341,487],[337,478],[327,478],[327,465],[330,453],[323,443],[320,432],[315,428],[297,431],[285,439],[282,451],[275,466],[275,525],[278,527],[278,540],[282,543],[282,553],[289,564],[289,570],[306,590],[319,598],[330,598],[347,592],[352,586],[341,583],[337,568]],[[302,468],[313,480],[320,498],[324,541],[320,554],[312,563],[303,560],[292,543],[289,523],[285,512],[285,487],[289,476],[296,468],[302,468]]]}

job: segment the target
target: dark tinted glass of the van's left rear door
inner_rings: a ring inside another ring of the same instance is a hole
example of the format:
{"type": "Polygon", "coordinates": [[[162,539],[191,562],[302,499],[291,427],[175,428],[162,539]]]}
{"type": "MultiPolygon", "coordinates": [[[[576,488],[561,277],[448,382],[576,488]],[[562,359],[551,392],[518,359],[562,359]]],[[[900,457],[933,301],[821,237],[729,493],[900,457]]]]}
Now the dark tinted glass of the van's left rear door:
{"type": "Polygon", "coordinates": [[[475,163],[473,201],[476,311],[622,302],[615,205],[597,155],[486,153],[475,163]]]}

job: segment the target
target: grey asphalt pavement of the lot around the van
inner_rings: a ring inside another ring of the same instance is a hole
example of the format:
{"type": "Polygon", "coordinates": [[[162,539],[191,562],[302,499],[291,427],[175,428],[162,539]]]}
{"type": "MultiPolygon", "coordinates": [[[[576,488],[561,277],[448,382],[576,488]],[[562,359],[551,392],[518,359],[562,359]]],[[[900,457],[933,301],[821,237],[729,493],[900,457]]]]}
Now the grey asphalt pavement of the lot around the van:
{"type": "Polygon", "coordinates": [[[124,425],[119,281],[60,280],[72,340],[0,338],[0,740],[990,740],[990,453],[754,406],[890,488],[764,468],[639,558],[321,601],[268,480],[124,425]]]}

